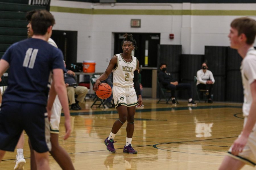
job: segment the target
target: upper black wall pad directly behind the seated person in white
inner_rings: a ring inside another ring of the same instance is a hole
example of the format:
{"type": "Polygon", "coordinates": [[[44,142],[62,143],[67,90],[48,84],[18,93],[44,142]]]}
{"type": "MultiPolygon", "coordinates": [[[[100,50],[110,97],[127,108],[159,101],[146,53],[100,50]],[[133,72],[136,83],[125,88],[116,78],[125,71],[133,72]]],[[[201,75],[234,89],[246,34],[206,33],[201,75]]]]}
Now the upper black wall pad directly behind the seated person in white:
{"type": "Polygon", "coordinates": [[[227,47],[205,46],[205,61],[213,76],[225,76],[226,74],[227,47]]]}

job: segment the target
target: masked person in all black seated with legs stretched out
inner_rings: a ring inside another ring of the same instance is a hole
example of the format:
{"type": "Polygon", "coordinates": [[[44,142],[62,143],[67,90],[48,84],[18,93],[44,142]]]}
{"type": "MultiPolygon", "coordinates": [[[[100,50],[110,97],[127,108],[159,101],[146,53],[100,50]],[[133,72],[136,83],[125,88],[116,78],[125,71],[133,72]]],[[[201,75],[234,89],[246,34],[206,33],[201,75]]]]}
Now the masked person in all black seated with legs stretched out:
{"type": "Polygon", "coordinates": [[[175,91],[176,90],[187,90],[188,94],[188,106],[196,106],[197,103],[192,99],[192,93],[191,93],[191,84],[189,83],[178,83],[174,80],[172,75],[170,73],[166,72],[166,64],[162,63],[160,65],[160,72],[158,73],[158,80],[162,84],[162,87],[165,89],[171,90],[171,97],[172,97],[172,104],[177,105],[175,100],[175,91]]]}

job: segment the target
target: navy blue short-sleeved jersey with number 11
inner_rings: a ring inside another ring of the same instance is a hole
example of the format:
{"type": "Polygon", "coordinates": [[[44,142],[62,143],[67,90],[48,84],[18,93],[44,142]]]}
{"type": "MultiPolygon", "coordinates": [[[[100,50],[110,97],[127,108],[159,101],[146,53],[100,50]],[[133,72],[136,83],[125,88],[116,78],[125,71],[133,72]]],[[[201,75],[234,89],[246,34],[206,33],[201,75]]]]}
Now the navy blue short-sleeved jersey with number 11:
{"type": "Polygon", "coordinates": [[[41,39],[31,38],[12,44],[2,59],[10,65],[3,103],[18,101],[46,105],[51,71],[65,70],[61,50],[41,39]]]}

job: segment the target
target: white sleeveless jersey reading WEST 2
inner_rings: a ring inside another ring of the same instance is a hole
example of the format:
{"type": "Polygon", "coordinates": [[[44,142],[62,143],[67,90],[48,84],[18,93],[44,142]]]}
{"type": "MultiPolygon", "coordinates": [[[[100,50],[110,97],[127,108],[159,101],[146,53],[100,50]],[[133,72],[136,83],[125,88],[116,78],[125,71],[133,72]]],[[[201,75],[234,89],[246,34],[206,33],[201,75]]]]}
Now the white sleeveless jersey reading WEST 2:
{"type": "Polygon", "coordinates": [[[137,68],[137,58],[131,56],[131,62],[127,63],[121,54],[116,54],[115,56],[117,56],[117,65],[113,69],[113,84],[120,87],[133,86],[133,72],[137,68]]]}

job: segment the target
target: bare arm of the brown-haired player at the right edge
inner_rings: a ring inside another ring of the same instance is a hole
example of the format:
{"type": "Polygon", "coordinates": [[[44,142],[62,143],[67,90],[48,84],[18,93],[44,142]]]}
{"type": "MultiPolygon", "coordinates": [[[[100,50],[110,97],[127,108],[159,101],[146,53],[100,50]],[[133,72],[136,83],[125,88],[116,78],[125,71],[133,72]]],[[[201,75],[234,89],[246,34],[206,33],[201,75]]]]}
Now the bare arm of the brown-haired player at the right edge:
{"type": "Polygon", "coordinates": [[[243,147],[247,143],[247,139],[256,123],[256,80],[254,80],[250,84],[251,88],[251,97],[252,97],[252,104],[249,111],[249,115],[247,117],[247,122],[243,128],[241,136],[235,140],[232,146],[232,154],[238,155],[239,152],[242,152],[243,147]]]}

